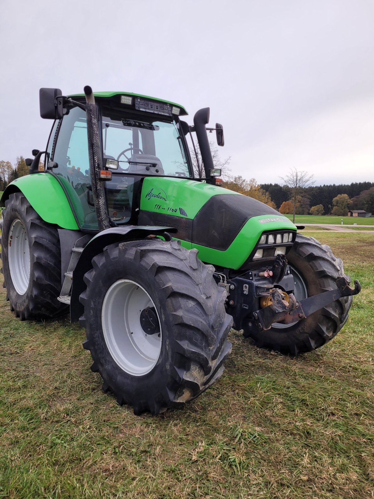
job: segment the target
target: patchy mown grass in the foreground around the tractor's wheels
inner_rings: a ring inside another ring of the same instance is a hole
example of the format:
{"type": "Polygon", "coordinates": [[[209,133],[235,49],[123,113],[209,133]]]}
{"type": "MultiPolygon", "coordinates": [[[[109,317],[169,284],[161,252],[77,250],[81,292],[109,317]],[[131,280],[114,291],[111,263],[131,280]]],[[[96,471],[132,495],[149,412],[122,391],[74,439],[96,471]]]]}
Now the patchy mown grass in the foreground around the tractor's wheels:
{"type": "Polygon", "coordinates": [[[220,380],[158,417],[101,392],[82,329],[20,322],[0,287],[0,498],[373,498],[374,239],[315,237],[363,285],[343,331],[297,358],[232,332],[220,380]]]}

